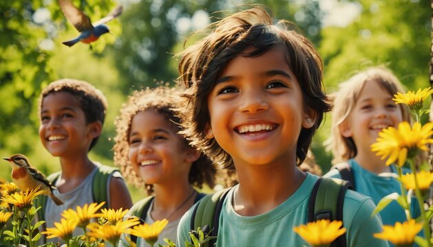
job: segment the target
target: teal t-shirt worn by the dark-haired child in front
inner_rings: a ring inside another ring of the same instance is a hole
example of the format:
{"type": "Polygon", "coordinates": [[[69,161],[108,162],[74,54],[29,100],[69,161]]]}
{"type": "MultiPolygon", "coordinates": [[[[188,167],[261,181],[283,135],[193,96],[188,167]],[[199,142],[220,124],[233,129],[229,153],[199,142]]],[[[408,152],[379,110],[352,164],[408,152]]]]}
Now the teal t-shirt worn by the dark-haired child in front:
{"type": "MultiPolygon", "coordinates": [[[[233,211],[231,202],[233,191],[237,188],[235,186],[224,200],[216,246],[306,246],[293,227],[307,223],[308,198],[318,178],[308,174],[290,198],[275,209],[256,216],[241,216],[233,211]]],[[[180,220],[177,246],[184,246],[185,241],[191,242],[188,233],[192,210],[189,209],[180,220]]],[[[343,215],[347,246],[388,246],[388,242],[372,236],[382,231],[380,217],[370,217],[373,210],[374,203],[370,198],[355,191],[347,191],[343,215]]]]}

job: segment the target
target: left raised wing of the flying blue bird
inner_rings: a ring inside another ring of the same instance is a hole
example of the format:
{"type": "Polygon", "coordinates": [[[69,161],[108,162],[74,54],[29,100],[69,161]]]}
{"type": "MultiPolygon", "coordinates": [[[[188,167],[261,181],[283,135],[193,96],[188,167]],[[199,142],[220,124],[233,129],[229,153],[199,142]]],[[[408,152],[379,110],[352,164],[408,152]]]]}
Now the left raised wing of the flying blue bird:
{"type": "Polygon", "coordinates": [[[83,11],[78,10],[70,0],[59,0],[59,5],[67,21],[70,21],[78,32],[91,30],[93,28],[89,16],[84,14],[83,11]]]}

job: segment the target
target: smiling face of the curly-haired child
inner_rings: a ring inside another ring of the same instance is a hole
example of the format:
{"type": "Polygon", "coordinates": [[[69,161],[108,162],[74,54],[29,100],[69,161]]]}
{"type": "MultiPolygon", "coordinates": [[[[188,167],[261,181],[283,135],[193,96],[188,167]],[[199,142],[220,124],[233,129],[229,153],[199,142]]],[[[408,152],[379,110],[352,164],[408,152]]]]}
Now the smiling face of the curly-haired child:
{"type": "Polygon", "coordinates": [[[138,112],[131,121],[129,160],[147,184],[188,179],[191,148],[177,134],[173,123],[155,110],[138,112]]]}

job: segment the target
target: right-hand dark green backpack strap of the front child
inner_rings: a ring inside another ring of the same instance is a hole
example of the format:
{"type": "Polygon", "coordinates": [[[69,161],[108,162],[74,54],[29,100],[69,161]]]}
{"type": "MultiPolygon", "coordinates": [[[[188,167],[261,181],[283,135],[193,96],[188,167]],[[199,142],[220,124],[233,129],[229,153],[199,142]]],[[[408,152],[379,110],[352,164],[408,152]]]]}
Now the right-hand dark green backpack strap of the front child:
{"type": "MultiPolygon", "coordinates": [[[[319,178],[308,200],[308,222],[339,220],[343,222],[344,196],[350,182],[338,178],[319,178]]],[[[343,227],[344,224],[341,226],[343,227]]],[[[346,234],[337,237],[330,246],[346,246],[346,234]]]]}

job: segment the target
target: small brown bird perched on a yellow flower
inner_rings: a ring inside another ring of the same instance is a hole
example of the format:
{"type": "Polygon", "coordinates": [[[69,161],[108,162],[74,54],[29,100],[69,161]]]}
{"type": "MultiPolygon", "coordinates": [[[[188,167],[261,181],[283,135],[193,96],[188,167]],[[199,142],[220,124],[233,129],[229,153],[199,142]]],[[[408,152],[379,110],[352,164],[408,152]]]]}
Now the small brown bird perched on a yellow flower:
{"type": "Polygon", "coordinates": [[[63,202],[54,196],[52,193],[53,189],[57,189],[45,178],[45,176],[39,172],[35,167],[32,167],[28,162],[28,158],[23,154],[14,154],[9,158],[3,158],[9,161],[12,166],[12,181],[21,189],[39,189],[44,191],[44,195],[50,196],[56,205],[61,205],[63,202]]]}

